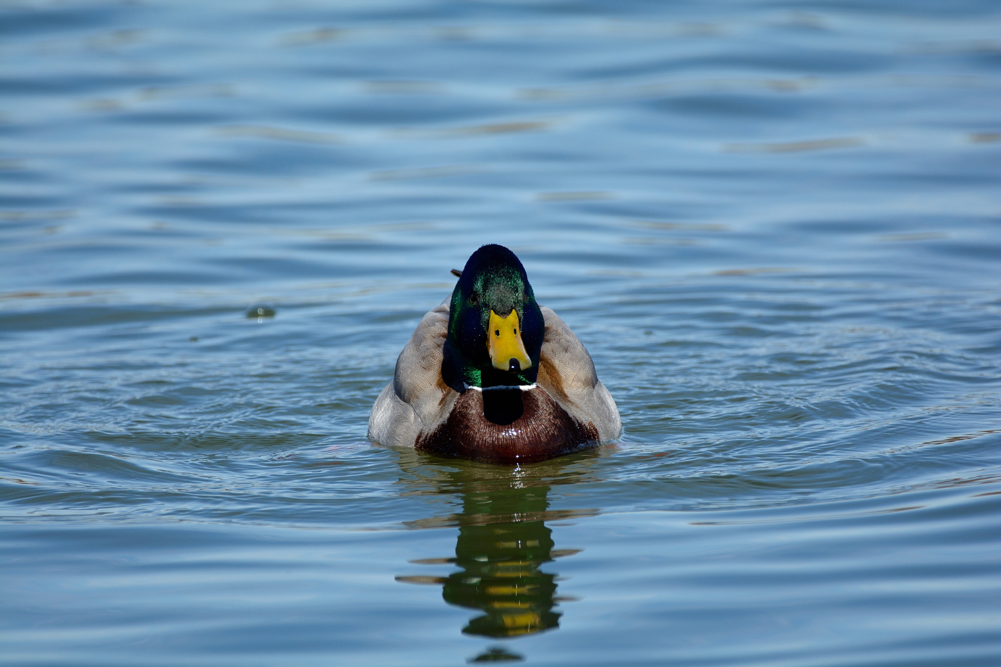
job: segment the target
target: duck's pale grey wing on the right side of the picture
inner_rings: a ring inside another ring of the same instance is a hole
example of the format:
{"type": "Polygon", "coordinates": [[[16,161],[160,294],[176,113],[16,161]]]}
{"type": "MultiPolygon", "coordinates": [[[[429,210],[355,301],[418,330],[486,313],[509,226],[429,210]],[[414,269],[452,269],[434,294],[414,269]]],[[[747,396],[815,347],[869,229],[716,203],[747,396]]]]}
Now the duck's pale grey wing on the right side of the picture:
{"type": "Polygon", "coordinates": [[[571,417],[594,424],[602,442],[617,439],[623,430],[619,408],[598,379],[591,355],[552,308],[543,306],[542,311],[546,336],[539,360],[539,385],[571,417]]]}

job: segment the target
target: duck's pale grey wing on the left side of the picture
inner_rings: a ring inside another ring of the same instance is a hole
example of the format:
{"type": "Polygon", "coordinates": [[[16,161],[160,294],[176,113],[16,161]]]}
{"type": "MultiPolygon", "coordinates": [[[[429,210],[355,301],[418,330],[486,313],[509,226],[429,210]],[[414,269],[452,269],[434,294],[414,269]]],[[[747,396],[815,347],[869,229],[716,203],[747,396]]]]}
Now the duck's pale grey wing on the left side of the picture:
{"type": "Polygon", "coordinates": [[[368,439],[412,447],[421,431],[447,418],[458,394],[441,380],[441,350],[448,333],[448,299],[424,315],[396,359],[392,382],[375,399],[368,439]]]}

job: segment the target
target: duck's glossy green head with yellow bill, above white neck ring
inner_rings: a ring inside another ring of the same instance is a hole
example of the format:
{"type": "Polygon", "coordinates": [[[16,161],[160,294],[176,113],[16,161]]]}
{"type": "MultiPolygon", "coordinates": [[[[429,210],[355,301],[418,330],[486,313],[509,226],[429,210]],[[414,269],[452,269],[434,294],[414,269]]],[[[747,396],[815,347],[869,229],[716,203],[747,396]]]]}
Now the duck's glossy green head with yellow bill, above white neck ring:
{"type": "Polygon", "coordinates": [[[545,333],[543,313],[515,253],[493,244],[472,253],[448,312],[445,363],[454,379],[473,387],[534,384],[545,333]]]}

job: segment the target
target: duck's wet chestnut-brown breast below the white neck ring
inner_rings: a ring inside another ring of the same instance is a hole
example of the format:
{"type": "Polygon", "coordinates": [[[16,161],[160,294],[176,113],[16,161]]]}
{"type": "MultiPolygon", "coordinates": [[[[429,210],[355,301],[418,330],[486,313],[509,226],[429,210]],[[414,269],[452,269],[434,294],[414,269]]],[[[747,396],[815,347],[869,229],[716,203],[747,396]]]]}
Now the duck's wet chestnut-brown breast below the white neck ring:
{"type": "Polygon", "coordinates": [[[536,387],[466,389],[444,423],[418,435],[415,445],[438,456],[511,464],[551,459],[598,440],[594,424],[574,419],[545,389],[536,387]]]}

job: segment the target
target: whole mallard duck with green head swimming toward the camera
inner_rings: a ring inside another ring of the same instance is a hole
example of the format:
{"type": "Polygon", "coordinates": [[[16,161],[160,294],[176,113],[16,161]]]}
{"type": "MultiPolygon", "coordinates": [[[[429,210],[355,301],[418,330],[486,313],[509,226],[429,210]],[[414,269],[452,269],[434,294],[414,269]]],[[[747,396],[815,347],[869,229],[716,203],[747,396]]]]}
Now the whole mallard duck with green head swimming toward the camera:
{"type": "Polygon", "coordinates": [[[518,256],[475,250],[451,296],[427,312],[368,417],[368,439],[494,464],[617,440],[622,419],[591,355],[540,306],[518,256]]]}

